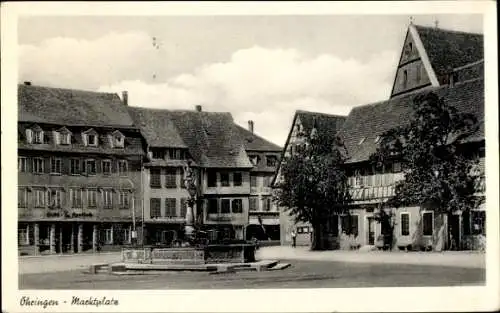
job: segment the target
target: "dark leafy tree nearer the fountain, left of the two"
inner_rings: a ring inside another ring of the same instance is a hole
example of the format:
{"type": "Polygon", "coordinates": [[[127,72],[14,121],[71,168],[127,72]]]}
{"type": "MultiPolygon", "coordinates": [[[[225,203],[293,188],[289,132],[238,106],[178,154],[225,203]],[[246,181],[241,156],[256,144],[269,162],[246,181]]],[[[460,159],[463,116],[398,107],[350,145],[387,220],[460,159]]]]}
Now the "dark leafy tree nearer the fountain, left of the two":
{"type": "Polygon", "coordinates": [[[345,146],[338,136],[313,128],[300,149],[282,161],[274,201],[296,222],[313,227],[312,250],[327,248],[323,232],[333,214],[347,212],[350,202],[343,169],[345,146]]]}

